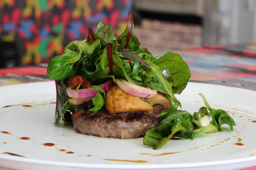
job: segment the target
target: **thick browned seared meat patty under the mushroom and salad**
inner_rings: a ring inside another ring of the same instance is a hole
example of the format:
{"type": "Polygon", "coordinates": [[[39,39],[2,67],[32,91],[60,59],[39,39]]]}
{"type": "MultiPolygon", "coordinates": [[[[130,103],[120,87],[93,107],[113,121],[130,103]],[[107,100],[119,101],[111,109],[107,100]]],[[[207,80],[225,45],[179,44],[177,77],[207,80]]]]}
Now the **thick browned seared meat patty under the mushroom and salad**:
{"type": "Polygon", "coordinates": [[[159,125],[160,119],[156,116],[163,111],[160,105],[154,106],[149,112],[118,113],[110,115],[105,109],[91,115],[85,111],[78,117],[73,117],[73,127],[76,131],[93,136],[134,139],[144,136],[145,133],[159,125]]]}

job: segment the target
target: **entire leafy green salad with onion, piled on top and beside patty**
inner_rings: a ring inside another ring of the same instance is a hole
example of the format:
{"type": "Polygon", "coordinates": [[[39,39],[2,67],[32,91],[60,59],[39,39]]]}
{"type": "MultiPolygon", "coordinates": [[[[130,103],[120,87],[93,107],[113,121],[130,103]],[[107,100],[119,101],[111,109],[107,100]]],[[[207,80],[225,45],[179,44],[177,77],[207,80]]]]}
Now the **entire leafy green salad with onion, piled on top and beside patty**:
{"type": "Polygon", "coordinates": [[[75,118],[87,110],[96,114],[104,108],[105,91],[112,85],[149,104],[147,99],[157,93],[168,98],[170,107],[157,116],[160,124],[148,130],[143,139],[143,144],[153,149],[163,147],[169,139],[194,139],[204,133],[221,132],[224,124],[230,130],[236,126],[226,111],[211,108],[203,94],[199,95],[206,107],[193,115],[182,110],[175,94],[186,88],[188,65],[179,54],[168,52],[157,58],[141,47],[130,11],[127,27],[119,38],[111,24],[99,22],[96,32],[88,29],[86,40],[70,42],[62,55],[49,61],[47,75],[56,84],[56,126],[61,119],[70,123],[71,114],[75,118]]]}

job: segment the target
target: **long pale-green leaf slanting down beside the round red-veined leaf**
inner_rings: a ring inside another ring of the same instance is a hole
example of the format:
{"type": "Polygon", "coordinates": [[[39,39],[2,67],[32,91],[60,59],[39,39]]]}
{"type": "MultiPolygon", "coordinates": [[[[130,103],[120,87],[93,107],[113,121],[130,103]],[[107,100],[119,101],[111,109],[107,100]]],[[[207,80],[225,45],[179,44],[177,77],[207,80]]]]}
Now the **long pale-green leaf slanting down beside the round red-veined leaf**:
{"type": "MultiPolygon", "coordinates": [[[[169,96],[172,97],[172,99],[175,101],[175,102],[178,102],[178,100],[176,99],[176,97],[174,96],[173,92],[172,92],[172,85],[173,83],[170,83],[170,82],[167,82],[166,79],[163,77],[163,74],[162,74],[162,71],[160,69],[160,67],[156,64],[154,64],[151,59],[148,59],[146,61],[146,63],[149,65],[149,67],[151,68],[150,70],[149,69],[146,69],[146,77],[154,77],[155,79],[157,79],[157,81],[160,83],[161,85],[161,88],[163,89],[162,91],[165,93],[165,94],[168,94],[169,96]]],[[[145,82],[143,82],[145,83],[145,82]]],[[[151,84],[147,84],[149,87],[151,87],[151,84]]],[[[154,87],[151,87],[151,88],[155,88],[154,87]]],[[[158,89],[155,89],[155,90],[158,90],[158,89]]],[[[180,105],[180,102],[179,102],[179,106],[181,107],[180,105]]]]}

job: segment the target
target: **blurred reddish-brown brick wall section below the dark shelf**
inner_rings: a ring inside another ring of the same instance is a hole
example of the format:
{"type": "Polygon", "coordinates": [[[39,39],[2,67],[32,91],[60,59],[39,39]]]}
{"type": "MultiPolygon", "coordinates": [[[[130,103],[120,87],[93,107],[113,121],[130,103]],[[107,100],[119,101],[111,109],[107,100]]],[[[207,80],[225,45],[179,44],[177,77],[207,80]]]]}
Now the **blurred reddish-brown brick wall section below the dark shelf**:
{"type": "Polygon", "coordinates": [[[143,19],[134,31],[150,52],[198,48],[202,42],[201,26],[193,24],[143,19]]]}

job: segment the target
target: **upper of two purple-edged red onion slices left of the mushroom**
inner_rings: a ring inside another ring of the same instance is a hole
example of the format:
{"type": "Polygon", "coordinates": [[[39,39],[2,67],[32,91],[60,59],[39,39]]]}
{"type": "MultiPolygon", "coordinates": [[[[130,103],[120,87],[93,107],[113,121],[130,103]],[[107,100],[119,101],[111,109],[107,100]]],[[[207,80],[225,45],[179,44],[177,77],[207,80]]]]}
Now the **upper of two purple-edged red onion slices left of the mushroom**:
{"type": "MultiPolygon", "coordinates": [[[[108,80],[102,85],[99,85],[103,88],[104,91],[107,91],[113,85],[113,80],[108,80]]],[[[89,97],[96,96],[96,92],[101,93],[100,91],[94,88],[84,88],[84,89],[72,89],[70,86],[67,87],[67,95],[74,99],[85,99],[89,97]]]]}

